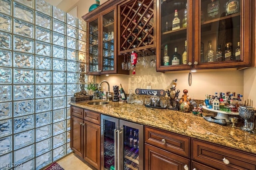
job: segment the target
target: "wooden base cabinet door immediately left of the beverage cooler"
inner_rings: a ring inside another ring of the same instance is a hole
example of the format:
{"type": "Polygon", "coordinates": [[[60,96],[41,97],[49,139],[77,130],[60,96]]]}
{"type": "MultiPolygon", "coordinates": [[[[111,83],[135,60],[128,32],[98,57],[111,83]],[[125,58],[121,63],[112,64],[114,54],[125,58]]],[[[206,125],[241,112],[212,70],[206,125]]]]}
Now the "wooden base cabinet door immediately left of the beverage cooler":
{"type": "Polygon", "coordinates": [[[100,126],[84,121],[84,160],[100,169],[100,126]]]}

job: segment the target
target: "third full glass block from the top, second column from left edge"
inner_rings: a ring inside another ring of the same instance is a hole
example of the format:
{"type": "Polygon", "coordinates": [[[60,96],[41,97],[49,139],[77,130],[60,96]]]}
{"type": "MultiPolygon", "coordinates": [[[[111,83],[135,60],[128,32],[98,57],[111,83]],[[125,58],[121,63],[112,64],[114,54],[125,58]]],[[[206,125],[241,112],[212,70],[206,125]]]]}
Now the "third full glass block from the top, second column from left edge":
{"type": "Polygon", "coordinates": [[[14,36],[14,50],[34,53],[34,40],[14,36]]]}

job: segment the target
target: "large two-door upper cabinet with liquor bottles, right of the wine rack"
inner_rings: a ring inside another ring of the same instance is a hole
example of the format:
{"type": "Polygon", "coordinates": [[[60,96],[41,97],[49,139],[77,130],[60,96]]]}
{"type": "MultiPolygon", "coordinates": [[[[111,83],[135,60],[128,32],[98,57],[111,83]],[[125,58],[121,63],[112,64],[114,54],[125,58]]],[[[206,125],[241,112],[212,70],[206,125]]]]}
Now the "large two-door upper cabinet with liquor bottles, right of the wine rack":
{"type": "Polygon", "coordinates": [[[254,6],[254,0],[158,0],[157,71],[253,66],[254,6]]]}

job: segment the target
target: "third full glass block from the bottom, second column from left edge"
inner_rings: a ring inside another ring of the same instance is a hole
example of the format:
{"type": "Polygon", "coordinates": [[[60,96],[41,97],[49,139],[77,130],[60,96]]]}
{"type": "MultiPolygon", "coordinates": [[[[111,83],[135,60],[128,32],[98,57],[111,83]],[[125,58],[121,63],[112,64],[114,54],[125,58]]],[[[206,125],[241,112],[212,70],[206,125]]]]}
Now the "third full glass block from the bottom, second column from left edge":
{"type": "Polygon", "coordinates": [[[14,118],[14,133],[34,128],[34,115],[14,118]]]}

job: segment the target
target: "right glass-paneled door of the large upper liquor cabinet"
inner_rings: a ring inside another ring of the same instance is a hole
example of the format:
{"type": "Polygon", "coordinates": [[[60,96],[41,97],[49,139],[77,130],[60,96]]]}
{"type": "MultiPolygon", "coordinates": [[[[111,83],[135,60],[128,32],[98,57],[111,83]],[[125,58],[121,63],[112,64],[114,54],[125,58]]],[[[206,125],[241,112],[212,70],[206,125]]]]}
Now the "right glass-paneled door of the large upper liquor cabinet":
{"type": "Polygon", "coordinates": [[[250,66],[253,0],[196,0],[194,68],[250,66]]]}

